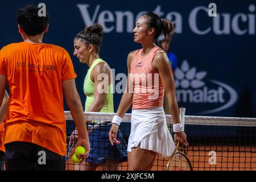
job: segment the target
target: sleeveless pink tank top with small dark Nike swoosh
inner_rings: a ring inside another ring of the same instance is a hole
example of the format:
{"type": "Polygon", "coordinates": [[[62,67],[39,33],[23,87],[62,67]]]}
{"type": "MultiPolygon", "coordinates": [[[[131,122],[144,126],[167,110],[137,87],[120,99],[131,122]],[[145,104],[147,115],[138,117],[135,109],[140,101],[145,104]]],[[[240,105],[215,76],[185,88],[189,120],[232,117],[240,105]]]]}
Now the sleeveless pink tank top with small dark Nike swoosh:
{"type": "MultiPolygon", "coordinates": [[[[164,89],[159,73],[152,68],[152,61],[159,47],[142,56],[142,49],[134,52],[130,65],[130,85],[133,85],[132,109],[148,109],[163,106],[164,89]]],[[[131,86],[130,86],[131,88],[131,86]]]]}

